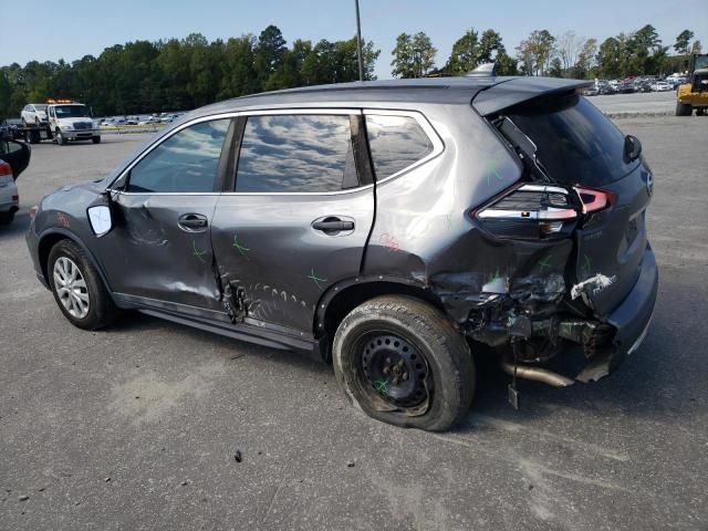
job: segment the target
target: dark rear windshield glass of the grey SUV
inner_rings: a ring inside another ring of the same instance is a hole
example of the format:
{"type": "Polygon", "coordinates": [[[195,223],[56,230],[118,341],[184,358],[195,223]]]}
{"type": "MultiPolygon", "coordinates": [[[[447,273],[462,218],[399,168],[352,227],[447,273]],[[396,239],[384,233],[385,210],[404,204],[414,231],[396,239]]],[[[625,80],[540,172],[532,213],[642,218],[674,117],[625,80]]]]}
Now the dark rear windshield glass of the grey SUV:
{"type": "Polygon", "coordinates": [[[525,102],[504,115],[533,140],[539,160],[558,183],[603,185],[639,164],[625,163],[624,135],[575,93],[525,102]]]}

